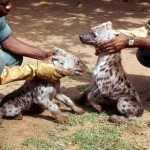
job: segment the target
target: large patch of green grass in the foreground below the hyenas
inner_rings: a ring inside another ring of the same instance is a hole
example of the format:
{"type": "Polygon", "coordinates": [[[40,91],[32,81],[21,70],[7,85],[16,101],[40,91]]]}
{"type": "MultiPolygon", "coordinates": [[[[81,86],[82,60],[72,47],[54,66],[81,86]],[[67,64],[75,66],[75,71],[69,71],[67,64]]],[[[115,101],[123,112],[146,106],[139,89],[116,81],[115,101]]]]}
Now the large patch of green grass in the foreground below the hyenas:
{"type": "Polygon", "coordinates": [[[43,131],[45,136],[43,134],[36,138],[27,138],[23,141],[22,148],[29,150],[144,150],[136,139],[124,138],[123,134],[129,129],[131,131],[132,127],[138,127],[138,122],[116,125],[106,120],[108,115],[104,112],[101,114],[86,112],[81,116],[73,114],[69,116],[68,124],[55,124],[43,131]]]}

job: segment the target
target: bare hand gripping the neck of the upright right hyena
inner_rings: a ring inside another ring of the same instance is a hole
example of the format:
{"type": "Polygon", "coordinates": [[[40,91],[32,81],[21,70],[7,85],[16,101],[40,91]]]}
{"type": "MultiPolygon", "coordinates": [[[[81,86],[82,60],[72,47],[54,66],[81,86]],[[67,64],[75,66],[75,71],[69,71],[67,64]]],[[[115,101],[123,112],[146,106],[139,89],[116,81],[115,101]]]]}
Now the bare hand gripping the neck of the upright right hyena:
{"type": "Polygon", "coordinates": [[[111,40],[105,41],[101,44],[98,44],[95,47],[96,55],[99,53],[114,53],[117,51],[120,51],[121,49],[125,48],[128,45],[128,39],[130,36],[127,36],[125,34],[119,34],[118,36],[114,37],[111,40]]]}

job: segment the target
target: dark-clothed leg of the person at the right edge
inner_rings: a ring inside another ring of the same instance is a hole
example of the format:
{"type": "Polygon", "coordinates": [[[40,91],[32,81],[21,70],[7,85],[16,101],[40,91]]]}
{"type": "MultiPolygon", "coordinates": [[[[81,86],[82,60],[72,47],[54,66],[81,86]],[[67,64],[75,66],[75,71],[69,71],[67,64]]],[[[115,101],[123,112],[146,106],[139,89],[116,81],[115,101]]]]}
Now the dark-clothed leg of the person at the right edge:
{"type": "Polygon", "coordinates": [[[150,67],[150,50],[138,49],[136,57],[143,66],[150,67]]]}

